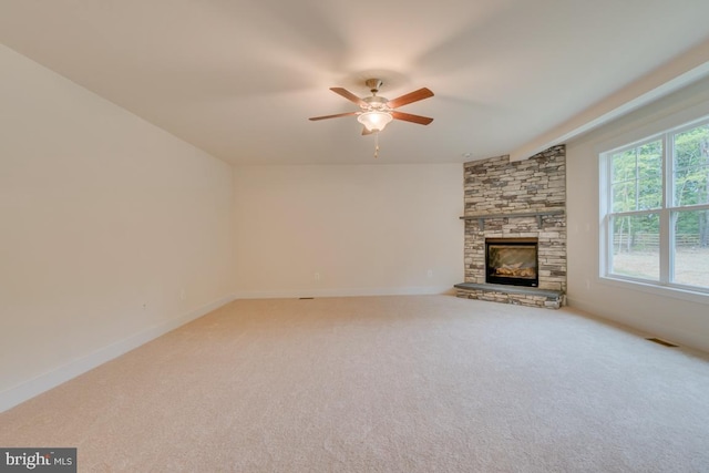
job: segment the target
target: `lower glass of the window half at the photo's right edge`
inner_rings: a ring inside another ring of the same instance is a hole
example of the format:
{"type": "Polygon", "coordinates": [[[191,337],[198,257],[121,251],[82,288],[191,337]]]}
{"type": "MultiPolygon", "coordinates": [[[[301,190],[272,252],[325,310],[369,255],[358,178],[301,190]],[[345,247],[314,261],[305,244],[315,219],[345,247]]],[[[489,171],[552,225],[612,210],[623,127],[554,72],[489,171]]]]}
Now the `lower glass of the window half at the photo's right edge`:
{"type": "Polygon", "coordinates": [[[672,281],[709,287],[709,210],[676,212],[672,281]]]}

